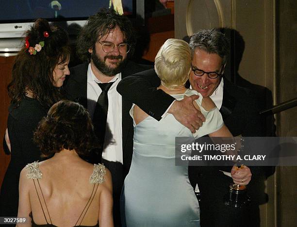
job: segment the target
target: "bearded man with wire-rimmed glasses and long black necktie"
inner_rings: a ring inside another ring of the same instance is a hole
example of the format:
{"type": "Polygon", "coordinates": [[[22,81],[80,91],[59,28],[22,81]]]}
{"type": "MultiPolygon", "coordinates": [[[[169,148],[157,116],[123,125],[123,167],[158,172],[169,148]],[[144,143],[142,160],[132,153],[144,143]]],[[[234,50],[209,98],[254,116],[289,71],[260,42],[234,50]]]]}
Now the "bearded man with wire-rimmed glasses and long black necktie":
{"type": "Polygon", "coordinates": [[[81,103],[92,117],[102,149],[94,150],[88,162],[101,162],[113,179],[114,221],[120,226],[119,199],[129,172],[133,148],[132,102],[117,91],[118,82],[128,75],[148,69],[128,60],[136,38],[132,23],[113,10],[101,9],[82,28],[77,52],[85,63],[70,68],[66,95],[81,103]]]}

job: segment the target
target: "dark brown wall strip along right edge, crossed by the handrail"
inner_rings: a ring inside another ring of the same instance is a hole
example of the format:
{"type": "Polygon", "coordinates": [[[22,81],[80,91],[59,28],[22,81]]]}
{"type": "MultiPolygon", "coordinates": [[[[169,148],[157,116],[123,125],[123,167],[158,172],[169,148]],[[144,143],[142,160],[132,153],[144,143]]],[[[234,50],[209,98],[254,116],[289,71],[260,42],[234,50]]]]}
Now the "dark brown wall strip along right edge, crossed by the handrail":
{"type": "MultiPolygon", "coordinates": [[[[297,97],[297,1],[277,1],[278,43],[278,102],[297,97]]],[[[279,134],[297,136],[297,107],[279,114],[279,134]]],[[[296,226],[297,223],[297,166],[279,167],[278,226],[296,226]]]]}

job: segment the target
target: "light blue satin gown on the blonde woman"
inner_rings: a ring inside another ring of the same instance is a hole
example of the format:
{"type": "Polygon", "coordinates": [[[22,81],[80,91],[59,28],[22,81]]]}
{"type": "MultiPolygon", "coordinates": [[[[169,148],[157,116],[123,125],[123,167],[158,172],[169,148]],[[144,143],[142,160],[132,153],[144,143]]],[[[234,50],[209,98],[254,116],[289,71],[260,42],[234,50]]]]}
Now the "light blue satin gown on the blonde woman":
{"type": "MultiPolygon", "coordinates": [[[[172,96],[181,100],[194,94],[198,93],[188,89],[184,94],[172,96]]],[[[196,137],[223,126],[218,109],[205,111],[201,107],[202,96],[199,97],[197,103],[206,122],[196,137]]],[[[133,117],[133,107],[130,114],[133,117]]],[[[200,209],[188,178],[188,166],[175,165],[175,137],[193,134],[172,114],[160,121],[148,116],[138,125],[133,120],[133,124],[132,164],[121,197],[123,226],[199,227],[200,209]]]]}

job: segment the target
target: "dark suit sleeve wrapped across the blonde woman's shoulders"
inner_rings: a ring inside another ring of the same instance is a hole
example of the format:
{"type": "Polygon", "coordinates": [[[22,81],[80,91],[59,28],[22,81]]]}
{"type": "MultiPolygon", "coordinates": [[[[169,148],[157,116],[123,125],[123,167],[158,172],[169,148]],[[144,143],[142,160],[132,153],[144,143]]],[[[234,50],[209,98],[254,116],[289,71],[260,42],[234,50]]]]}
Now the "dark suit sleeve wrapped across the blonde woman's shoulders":
{"type": "Polygon", "coordinates": [[[154,69],[136,73],[122,79],[116,90],[123,97],[139,106],[144,112],[156,120],[168,109],[175,100],[162,90],[157,90],[160,79],[154,69]]]}

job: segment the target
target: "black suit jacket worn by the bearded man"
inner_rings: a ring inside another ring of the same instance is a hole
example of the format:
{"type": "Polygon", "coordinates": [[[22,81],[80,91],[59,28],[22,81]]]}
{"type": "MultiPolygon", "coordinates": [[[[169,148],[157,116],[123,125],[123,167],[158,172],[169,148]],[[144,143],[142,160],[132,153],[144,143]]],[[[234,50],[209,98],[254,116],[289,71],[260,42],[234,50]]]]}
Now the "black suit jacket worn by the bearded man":
{"type": "MultiPolygon", "coordinates": [[[[88,63],[74,66],[70,68],[70,76],[68,76],[65,83],[66,97],[69,100],[77,101],[87,109],[87,70],[88,63]]],[[[131,61],[128,61],[126,66],[123,68],[121,74],[122,79],[143,71],[147,70],[151,66],[138,65],[131,61]]],[[[122,138],[123,138],[123,166],[124,174],[127,175],[130,169],[132,160],[132,149],[133,149],[133,122],[129,111],[132,107],[132,102],[122,97],[122,138]]]]}

